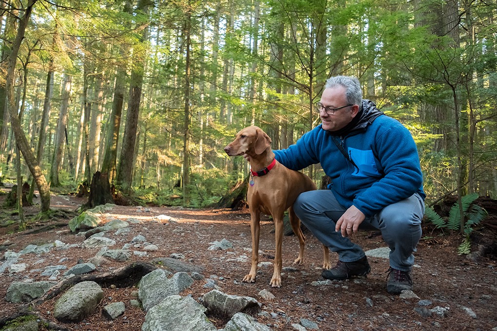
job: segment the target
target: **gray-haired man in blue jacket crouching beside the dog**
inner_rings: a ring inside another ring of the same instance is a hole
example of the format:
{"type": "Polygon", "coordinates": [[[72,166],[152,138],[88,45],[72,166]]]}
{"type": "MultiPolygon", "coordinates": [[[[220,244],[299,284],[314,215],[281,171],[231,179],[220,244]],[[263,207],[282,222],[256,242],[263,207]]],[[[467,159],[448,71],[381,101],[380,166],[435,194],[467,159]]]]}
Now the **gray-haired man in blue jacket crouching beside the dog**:
{"type": "Polygon", "coordinates": [[[274,153],[294,170],[321,163],[331,177],[330,190],[302,193],[294,204],[306,227],[338,253],[337,265],[324,270],[323,277],[347,279],[370,272],[364,251],[349,237],[359,227],[373,226],[391,250],[387,291],[412,290],[425,195],[411,133],[363,100],[354,77],[328,79],[316,105],[322,124],[274,153]]]}

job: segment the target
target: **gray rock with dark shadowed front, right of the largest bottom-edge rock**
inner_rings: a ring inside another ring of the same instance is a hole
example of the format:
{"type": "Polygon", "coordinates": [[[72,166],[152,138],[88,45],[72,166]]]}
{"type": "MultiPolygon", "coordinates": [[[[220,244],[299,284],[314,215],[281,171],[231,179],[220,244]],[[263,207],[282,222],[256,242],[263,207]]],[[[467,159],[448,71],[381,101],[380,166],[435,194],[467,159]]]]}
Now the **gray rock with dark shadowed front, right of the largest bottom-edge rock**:
{"type": "Polygon", "coordinates": [[[252,307],[258,307],[258,302],[252,297],[239,297],[236,295],[227,295],[218,290],[212,290],[205,293],[203,303],[207,310],[217,312],[227,317],[233,317],[236,313],[252,307]]]}

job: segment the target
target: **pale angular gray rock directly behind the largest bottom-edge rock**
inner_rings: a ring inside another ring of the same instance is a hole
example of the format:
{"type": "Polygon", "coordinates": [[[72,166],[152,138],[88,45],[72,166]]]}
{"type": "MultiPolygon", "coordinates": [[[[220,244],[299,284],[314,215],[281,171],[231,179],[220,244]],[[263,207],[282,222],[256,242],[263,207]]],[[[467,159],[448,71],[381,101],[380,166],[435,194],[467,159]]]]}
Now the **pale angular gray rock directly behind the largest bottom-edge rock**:
{"type": "Polygon", "coordinates": [[[170,295],[181,293],[193,284],[193,279],[186,272],[177,272],[171,278],[171,273],[156,269],[142,277],[138,289],[138,298],[145,311],[159,304],[170,295]]]}

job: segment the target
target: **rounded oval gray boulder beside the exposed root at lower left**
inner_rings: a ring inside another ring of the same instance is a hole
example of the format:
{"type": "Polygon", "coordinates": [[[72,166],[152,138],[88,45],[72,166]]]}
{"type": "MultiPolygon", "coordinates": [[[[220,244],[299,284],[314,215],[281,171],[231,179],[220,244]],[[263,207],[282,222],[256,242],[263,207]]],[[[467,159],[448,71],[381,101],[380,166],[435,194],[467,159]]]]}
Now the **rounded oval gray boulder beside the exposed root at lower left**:
{"type": "Polygon", "coordinates": [[[94,312],[103,298],[103,291],[93,281],[71,287],[55,303],[54,317],[61,322],[79,322],[94,312]]]}

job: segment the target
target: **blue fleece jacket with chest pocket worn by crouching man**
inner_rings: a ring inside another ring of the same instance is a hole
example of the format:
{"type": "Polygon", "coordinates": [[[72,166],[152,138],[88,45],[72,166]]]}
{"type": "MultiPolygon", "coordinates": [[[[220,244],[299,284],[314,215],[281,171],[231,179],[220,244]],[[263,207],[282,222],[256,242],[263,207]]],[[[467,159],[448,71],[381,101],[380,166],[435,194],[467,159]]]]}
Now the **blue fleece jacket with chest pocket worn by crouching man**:
{"type": "MultiPolygon", "coordinates": [[[[364,100],[363,107],[374,106],[364,100]]],[[[376,112],[378,110],[374,107],[376,112]]],[[[364,109],[367,113],[369,110],[364,109]]],[[[364,114],[362,115],[364,116],[364,114]]],[[[321,125],[305,133],[287,149],[275,150],[276,159],[289,169],[321,163],[331,177],[330,189],[345,208],[356,206],[366,217],[385,206],[419,193],[424,199],[423,176],[411,132],[386,115],[361,121],[343,136],[334,137],[321,125]]]]}

